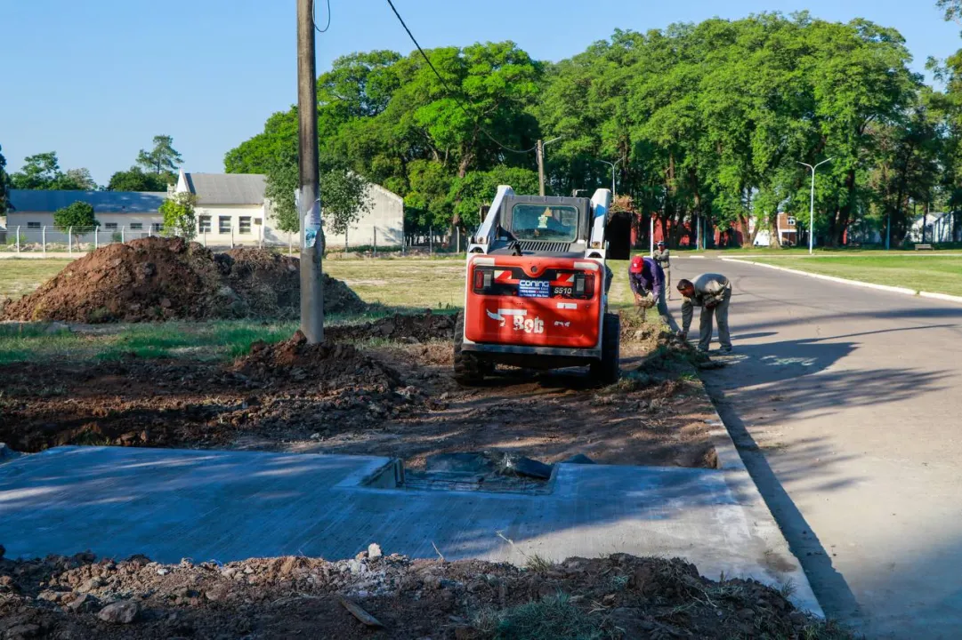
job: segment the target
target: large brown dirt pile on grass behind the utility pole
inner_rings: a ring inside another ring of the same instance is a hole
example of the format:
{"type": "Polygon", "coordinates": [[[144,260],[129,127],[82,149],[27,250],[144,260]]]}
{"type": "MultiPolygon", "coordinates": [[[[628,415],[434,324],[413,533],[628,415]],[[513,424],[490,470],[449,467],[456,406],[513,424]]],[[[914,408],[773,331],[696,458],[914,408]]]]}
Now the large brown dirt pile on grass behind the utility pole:
{"type": "MultiPolygon", "coordinates": [[[[260,249],[215,254],[182,238],[148,237],[97,249],[67,265],[29,296],[10,302],[0,320],[146,322],[297,317],[299,261],[260,249]]],[[[330,313],[367,306],[325,275],[330,313]]]]}

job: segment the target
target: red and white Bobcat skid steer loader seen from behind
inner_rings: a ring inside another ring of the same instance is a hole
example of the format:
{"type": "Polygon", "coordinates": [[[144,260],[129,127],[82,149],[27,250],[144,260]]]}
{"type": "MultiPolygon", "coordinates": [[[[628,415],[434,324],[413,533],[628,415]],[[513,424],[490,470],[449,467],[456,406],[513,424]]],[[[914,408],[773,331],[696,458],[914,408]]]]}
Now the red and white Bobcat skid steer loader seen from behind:
{"type": "Polygon", "coordinates": [[[590,368],[617,382],[619,316],[607,312],[611,271],[627,259],[631,219],[611,191],[588,198],[516,195],[499,186],[468,240],[465,310],[454,335],[454,377],[476,383],[496,364],[590,368]]]}

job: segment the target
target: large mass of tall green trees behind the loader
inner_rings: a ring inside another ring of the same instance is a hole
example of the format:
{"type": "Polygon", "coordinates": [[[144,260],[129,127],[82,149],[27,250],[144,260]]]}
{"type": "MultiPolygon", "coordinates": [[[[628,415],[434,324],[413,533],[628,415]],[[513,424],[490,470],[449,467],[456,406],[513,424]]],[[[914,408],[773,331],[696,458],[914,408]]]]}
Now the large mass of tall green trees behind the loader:
{"type": "MultiPolygon", "coordinates": [[[[958,2],[940,7],[958,18],[958,2]]],[[[899,242],[917,203],[962,202],[962,55],[932,62],[947,82],[936,91],[909,69],[899,33],[868,20],[762,13],[618,30],[557,63],[513,42],[426,54],[441,79],[418,52],[392,51],[345,56],[317,79],[322,173],[398,193],[409,229],[476,225],[498,184],[536,192],[533,147],[554,137],[550,192],[607,186],[600,160],[620,161],[620,194],[673,241],[696,220],[747,232],[751,219],[757,231],[779,211],[807,212],[800,162],[829,158],[813,230],[827,244],[854,229],[899,242]]],[[[291,108],[225,166],[266,173],[292,202],[296,145],[291,108]]]]}

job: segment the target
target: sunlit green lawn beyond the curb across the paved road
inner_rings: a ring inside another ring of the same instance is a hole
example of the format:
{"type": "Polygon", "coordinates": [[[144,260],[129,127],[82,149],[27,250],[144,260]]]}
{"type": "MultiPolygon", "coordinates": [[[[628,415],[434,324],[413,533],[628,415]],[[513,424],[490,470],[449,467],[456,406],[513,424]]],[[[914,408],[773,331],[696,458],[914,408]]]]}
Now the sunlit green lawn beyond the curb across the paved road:
{"type": "Polygon", "coordinates": [[[863,283],[888,284],[916,291],[962,296],[962,257],[931,258],[926,255],[913,259],[904,255],[895,255],[868,256],[859,259],[820,257],[753,258],[753,260],[863,283]]]}

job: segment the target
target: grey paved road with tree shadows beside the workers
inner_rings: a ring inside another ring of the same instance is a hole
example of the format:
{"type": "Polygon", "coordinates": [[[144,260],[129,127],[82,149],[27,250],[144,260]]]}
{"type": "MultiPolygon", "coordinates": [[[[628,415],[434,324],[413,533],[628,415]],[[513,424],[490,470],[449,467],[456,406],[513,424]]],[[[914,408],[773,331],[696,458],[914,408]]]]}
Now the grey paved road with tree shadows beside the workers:
{"type": "Polygon", "coordinates": [[[704,271],[734,284],[738,352],[706,382],[826,613],[962,637],[962,305],[714,259],[673,275],[704,271]]]}

